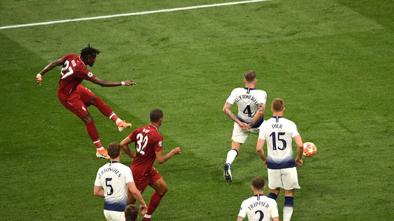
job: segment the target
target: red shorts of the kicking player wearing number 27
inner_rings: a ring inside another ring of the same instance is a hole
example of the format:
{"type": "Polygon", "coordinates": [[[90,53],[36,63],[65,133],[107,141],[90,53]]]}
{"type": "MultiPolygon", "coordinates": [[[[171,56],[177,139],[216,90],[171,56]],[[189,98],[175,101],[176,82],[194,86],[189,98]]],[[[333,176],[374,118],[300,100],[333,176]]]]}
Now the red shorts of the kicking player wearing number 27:
{"type": "Polygon", "coordinates": [[[90,105],[90,99],[93,96],[95,96],[93,92],[80,84],[76,87],[75,91],[68,96],[67,100],[61,98],[59,98],[59,100],[70,112],[82,119],[88,114],[87,106],[90,105]]]}

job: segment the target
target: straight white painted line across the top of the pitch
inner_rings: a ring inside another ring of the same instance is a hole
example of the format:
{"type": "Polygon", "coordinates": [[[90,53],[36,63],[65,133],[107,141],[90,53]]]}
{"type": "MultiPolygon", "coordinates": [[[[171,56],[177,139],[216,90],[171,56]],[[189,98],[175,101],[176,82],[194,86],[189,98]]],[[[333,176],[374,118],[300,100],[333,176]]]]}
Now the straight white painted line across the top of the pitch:
{"type": "Polygon", "coordinates": [[[22,27],[29,27],[29,26],[51,25],[51,24],[56,24],[56,23],[68,23],[68,22],[72,22],[72,21],[94,20],[94,19],[133,16],[133,15],[142,15],[142,14],[153,14],[153,13],[161,13],[161,12],[182,11],[182,10],[190,10],[190,9],[198,9],[198,8],[209,8],[209,7],[218,7],[218,6],[239,5],[239,4],[247,4],[247,3],[266,2],[266,1],[271,1],[271,0],[251,0],[251,1],[220,3],[220,4],[202,5],[202,6],[190,6],[190,7],[184,7],[184,8],[162,9],[162,10],[156,10],[156,11],[144,11],[144,12],[134,12],[134,13],[126,13],[126,14],[114,14],[114,15],[105,15],[105,16],[97,16],[97,17],[75,18],[75,19],[66,19],[66,20],[57,20],[57,21],[47,21],[47,22],[43,22],[43,23],[31,23],[31,24],[24,24],[24,25],[1,26],[0,29],[11,29],[11,28],[22,28],[22,27]]]}

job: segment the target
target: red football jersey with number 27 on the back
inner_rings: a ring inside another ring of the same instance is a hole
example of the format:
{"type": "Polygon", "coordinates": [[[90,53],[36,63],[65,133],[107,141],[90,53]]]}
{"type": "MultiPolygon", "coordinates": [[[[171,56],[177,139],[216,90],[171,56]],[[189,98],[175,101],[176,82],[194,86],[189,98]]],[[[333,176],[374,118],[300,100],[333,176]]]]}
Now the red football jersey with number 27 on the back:
{"type": "Polygon", "coordinates": [[[62,57],[62,60],[64,61],[64,65],[60,73],[57,96],[63,100],[67,100],[82,80],[92,80],[96,76],[86,69],[86,65],[79,55],[68,54],[62,57]]]}

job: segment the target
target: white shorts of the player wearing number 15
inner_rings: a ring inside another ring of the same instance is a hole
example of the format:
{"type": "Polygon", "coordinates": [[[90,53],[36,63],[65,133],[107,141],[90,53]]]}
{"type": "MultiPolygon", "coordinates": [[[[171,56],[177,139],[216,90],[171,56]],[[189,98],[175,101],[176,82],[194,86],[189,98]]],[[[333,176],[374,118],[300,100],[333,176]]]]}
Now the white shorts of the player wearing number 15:
{"type": "Polygon", "coordinates": [[[268,187],[285,190],[300,189],[298,185],[297,167],[284,169],[268,169],[268,187]]]}

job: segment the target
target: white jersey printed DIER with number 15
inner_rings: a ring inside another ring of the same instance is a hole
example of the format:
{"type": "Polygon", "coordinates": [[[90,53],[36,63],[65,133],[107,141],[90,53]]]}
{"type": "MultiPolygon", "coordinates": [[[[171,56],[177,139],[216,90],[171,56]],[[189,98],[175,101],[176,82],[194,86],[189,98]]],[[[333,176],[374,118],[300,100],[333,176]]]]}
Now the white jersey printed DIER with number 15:
{"type": "Polygon", "coordinates": [[[297,166],[291,148],[292,138],[299,135],[297,126],[284,117],[273,116],[260,126],[259,139],[267,143],[267,167],[283,169],[297,166]]]}

